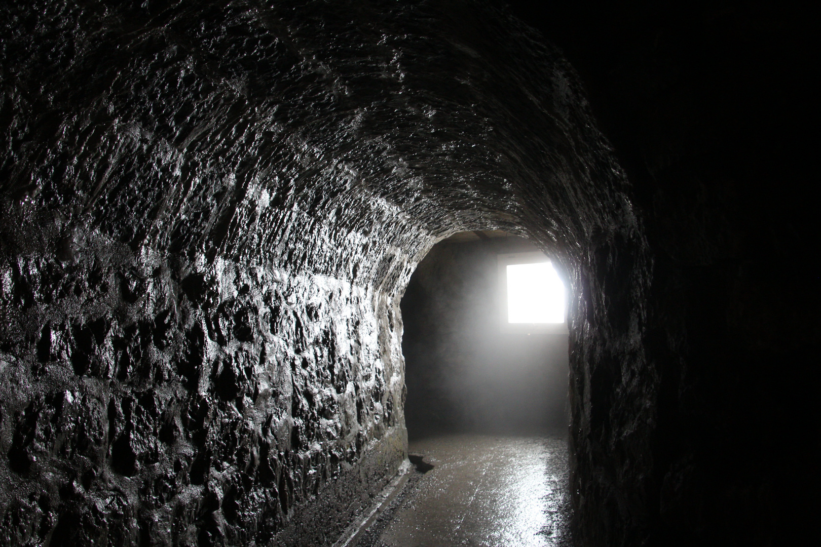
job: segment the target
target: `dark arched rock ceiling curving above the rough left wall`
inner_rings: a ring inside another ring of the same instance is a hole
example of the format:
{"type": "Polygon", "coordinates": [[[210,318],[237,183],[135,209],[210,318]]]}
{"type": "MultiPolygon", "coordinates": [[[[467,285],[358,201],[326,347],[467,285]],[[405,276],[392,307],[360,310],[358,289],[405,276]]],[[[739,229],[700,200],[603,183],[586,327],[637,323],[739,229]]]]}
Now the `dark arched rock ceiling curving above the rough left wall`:
{"type": "Polygon", "coordinates": [[[580,258],[635,227],[571,68],[493,8],[151,6],[10,10],[23,218],[364,281],[384,244],[502,227],[580,258]]]}

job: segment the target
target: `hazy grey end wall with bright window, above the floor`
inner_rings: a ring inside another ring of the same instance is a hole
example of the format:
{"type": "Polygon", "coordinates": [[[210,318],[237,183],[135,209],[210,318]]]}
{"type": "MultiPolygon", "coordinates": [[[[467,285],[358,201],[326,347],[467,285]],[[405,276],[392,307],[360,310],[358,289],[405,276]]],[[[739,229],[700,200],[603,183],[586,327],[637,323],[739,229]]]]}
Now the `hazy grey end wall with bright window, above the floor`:
{"type": "MultiPolygon", "coordinates": [[[[555,311],[529,318],[521,309],[548,294],[511,293],[524,297],[518,308],[507,300],[507,272],[521,273],[520,264],[552,270],[547,260],[527,239],[488,231],[453,235],[420,262],[401,300],[411,440],[462,432],[566,434],[566,322],[557,322],[555,311]]],[[[517,281],[525,286],[526,279],[517,281]]]]}

